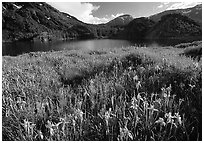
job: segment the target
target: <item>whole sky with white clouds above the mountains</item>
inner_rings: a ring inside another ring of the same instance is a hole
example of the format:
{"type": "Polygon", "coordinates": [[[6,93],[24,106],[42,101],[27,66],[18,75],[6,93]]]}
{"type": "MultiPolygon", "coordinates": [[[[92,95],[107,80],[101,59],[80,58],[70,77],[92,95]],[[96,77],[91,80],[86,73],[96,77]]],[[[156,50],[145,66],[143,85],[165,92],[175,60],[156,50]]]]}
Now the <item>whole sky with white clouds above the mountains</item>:
{"type": "Polygon", "coordinates": [[[48,2],[59,11],[91,24],[106,23],[120,15],[130,14],[134,18],[171,9],[193,7],[201,2],[48,2]]]}

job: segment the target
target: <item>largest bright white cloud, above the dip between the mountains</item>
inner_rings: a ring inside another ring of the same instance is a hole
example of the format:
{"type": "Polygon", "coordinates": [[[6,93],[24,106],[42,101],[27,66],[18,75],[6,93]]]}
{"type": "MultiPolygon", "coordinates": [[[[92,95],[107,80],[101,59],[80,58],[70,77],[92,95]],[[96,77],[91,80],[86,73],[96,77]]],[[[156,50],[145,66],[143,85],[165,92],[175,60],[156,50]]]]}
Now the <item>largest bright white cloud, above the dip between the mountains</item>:
{"type": "Polygon", "coordinates": [[[100,6],[95,6],[91,3],[81,3],[81,2],[48,2],[51,6],[55,7],[61,12],[68,13],[77,19],[92,24],[106,23],[113,18],[122,15],[123,13],[111,15],[106,15],[105,17],[95,17],[93,12],[97,11],[100,6]]]}

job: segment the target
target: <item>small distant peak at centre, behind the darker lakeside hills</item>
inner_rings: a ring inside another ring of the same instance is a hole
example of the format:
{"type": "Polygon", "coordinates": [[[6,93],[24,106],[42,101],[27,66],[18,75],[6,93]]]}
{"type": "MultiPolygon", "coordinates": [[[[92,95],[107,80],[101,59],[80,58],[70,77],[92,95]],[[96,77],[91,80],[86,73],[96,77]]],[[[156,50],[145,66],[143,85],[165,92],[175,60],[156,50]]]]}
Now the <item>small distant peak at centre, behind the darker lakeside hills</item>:
{"type": "Polygon", "coordinates": [[[128,23],[130,23],[130,21],[132,21],[133,19],[134,18],[131,15],[125,14],[125,15],[118,16],[115,19],[109,21],[108,23],[106,23],[106,25],[112,26],[112,27],[125,26],[128,23]]]}

